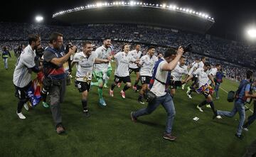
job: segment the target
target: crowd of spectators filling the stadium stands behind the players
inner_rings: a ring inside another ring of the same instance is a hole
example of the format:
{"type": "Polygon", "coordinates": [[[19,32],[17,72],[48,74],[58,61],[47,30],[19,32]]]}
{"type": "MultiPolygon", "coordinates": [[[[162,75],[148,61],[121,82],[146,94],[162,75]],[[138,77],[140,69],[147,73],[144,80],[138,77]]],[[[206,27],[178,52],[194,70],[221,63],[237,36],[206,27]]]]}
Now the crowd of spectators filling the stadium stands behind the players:
{"type": "Polygon", "coordinates": [[[142,43],[142,52],[148,45],[155,45],[158,52],[164,53],[168,47],[178,45],[193,45],[193,53],[187,62],[194,58],[207,56],[213,65],[222,63],[227,77],[241,79],[247,67],[255,67],[256,45],[248,45],[238,41],[225,40],[209,35],[201,35],[178,31],[176,29],[159,28],[154,26],[121,25],[121,24],[89,24],[83,26],[46,26],[28,23],[0,23],[0,48],[7,46],[9,50],[21,49],[27,45],[28,34],[38,33],[43,47],[48,45],[50,33],[58,31],[65,36],[65,43],[72,41],[78,49],[82,47],[82,40],[92,40],[96,46],[101,45],[101,38],[110,36],[113,40],[113,50],[121,51],[124,42],[142,43]],[[18,48],[18,46],[20,48],[18,48]],[[239,66],[240,65],[240,66],[239,66]]]}

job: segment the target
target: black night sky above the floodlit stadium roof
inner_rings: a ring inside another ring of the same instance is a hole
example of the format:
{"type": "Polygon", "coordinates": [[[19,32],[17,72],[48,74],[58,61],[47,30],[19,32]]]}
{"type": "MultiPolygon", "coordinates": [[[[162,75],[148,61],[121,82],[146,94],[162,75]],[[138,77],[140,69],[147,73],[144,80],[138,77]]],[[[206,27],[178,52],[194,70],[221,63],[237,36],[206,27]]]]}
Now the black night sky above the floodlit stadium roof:
{"type": "MultiPolygon", "coordinates": [[[[76,6],[85,6],[94,1],[2,1],[0,21],[33,23],[36,15],[45,18],[44,23],[55,23],[52,14],[76,6]]],[[[97,2],[97,1],[95,1],[97,2]]],[[[102,1],[103,2],[103,1],[102,1]]],[[[105,2],[105,1],[104,1],[105,2]]],[[[109,1],[112,2],[112,1],[109,1]]],[[[156,1],[142,1],[155,3],[156,1]]],[[[176,4],[195,11],[208,13],[215,18],[215,24],[207,32],[214,36],[238,38],[244,33],[245,27],[256,23],[256,1],[195,1],[174,0],[157,1],[159,4],[176,4]]]]}

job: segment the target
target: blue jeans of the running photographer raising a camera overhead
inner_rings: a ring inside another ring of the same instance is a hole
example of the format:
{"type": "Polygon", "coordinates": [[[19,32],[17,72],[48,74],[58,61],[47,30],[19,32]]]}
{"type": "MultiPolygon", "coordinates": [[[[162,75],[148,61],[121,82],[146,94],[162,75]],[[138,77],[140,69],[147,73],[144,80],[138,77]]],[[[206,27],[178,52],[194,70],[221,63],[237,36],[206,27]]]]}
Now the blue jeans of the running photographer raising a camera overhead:
{"type": "Polygon", "coordinates": [[[139,109],[137,112],[134,112],[132,116],[137,118],[145,114],[151,114],[152,112],[154,112],[156,107],[159,106],[159,104],[163,105],[164,109],[166,109],[166,112],[167,112],[166,134],[171,134],[171,129],[174,124],[174,117],[176,112],[174,108],[173,99],[171,98],[171,95],[169,93],[167,93],[162,97],[156,97],[156,99],[150,102],[146,108],[139,109]]]}

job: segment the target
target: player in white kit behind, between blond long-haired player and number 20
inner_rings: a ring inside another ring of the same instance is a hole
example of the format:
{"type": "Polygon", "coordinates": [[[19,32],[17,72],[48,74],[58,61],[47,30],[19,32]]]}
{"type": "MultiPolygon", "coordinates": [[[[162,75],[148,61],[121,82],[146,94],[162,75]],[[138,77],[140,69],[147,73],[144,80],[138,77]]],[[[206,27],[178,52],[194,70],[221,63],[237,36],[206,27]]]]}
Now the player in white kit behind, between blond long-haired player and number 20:
{"type": "MultiPolygon", "coordinates": [[[[140,49],[141,49],[141,45],[137,44],[135,46],[135,50],[129,51],[129,55],[132,55],[132,57],[135,60],[139,60],[139,58],[142,57],[142,51],[140,49]]],[[[131,75],[132,72],[135,72],[135,74],[136,74],[136,80],[135,80],[135,83],[134,83],[132,89],[137,91],[137,85],[139,83],[139,67],[135,63],[129,63],[129,74],[131,75]]]]}

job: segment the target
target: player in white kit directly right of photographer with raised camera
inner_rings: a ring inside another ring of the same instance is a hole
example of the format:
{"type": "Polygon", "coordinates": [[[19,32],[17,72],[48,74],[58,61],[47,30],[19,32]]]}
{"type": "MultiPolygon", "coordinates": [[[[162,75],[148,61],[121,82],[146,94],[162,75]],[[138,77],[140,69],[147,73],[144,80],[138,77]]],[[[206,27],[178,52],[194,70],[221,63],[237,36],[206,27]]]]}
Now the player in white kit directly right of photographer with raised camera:
{"type": "Polygon", "coordinates": [[[181,56],[179,64],[176,65],[174,70],[171,70],[171,97],[174,98],[177,87],[181,87],[184,80],[182,80],[182,75],[188,74],[188,67],[185,65],[185,57],[181,56]]]}

